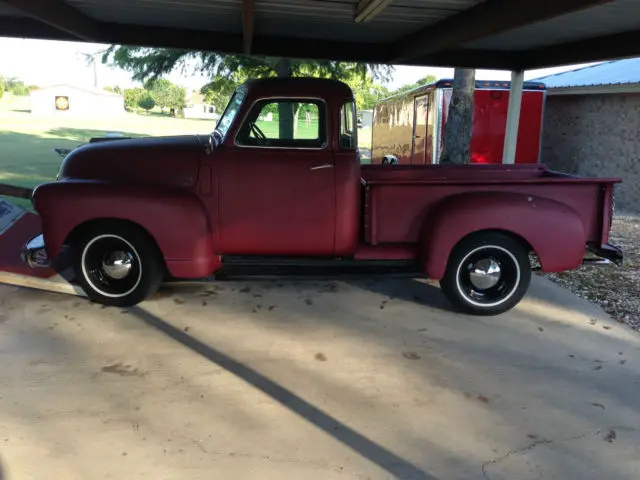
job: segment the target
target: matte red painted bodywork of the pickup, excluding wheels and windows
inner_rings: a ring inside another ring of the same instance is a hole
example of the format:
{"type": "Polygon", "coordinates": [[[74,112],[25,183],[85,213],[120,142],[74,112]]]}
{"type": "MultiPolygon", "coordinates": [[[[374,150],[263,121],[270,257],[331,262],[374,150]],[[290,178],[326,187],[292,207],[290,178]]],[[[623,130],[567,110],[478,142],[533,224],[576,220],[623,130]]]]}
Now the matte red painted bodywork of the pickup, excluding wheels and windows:
{"type": "Polygon", "coordinates": [[[608,240],[617,179],[578,178],[541,165],[364,166],[339,141],[339,112],[353,101],[339,82],[268,79],[246,96],[226,135],[114,140],[72,152],[60,181],[34,192],[50,257],[77,228],[120,219],[145,229],[176,277],[213,273],[225,255],[413,259],[443,276],[458,242],[506,232],[545,271],[575,268],[585,245],[608,240]],[[235,144],[264,98],[316,99],[326,146],[235,144]],[[323,168],[316,168],[316,167],[323,168]]]}

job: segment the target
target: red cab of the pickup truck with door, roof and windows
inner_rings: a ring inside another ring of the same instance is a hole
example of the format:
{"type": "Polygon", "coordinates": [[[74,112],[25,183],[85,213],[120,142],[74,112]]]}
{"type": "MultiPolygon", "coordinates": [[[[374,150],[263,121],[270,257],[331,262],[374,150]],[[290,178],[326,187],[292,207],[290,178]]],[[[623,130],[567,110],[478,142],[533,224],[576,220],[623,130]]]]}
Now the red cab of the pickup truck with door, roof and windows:
{"type": "Polygon", "coordinates": [[[223,113],[205,167],[218,181],[225,254],[352,255],[360,164],[349,87],[319,79],[248,82],[223,113]],[[242,219],[242,221],[238,221],[242,219]]]}

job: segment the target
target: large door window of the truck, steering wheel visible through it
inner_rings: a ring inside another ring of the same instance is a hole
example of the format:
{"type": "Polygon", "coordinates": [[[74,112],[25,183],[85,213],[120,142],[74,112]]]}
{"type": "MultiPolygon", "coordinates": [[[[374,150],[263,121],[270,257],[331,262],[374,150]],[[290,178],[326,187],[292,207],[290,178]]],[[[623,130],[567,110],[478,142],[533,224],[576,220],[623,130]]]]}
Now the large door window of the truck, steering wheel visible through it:
{"type": "Polygon", "coordinates": [[[327,132],[320,101],[263,100],[249,112],[236,144],[251,147],[323,148],[327,132]]]}

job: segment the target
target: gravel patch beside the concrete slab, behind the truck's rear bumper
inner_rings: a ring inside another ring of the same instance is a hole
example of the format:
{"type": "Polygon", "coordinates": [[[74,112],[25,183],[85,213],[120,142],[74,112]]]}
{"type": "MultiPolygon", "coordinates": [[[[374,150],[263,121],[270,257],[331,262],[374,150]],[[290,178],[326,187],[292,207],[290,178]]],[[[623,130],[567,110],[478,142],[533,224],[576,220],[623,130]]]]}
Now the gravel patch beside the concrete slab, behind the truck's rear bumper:
{"type": "Polygon", "coordinates": [[[616,216],[609,241],[623,250],[622,268],[583,266],[545,276],[640,331],[640,217],[616,216]]]}

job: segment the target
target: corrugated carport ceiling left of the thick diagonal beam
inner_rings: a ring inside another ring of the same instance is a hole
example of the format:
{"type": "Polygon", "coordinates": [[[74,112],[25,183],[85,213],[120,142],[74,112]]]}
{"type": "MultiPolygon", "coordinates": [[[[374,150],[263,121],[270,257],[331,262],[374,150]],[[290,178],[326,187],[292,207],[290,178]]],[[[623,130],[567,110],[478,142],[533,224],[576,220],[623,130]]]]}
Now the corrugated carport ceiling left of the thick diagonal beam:
{"type": "MultiPolygon", "coordinates": [[[[260,0],[256,34],[342,41],[401,38],[481,0],[399,0],[373,21],[354,23],[358,0],[260,0]]],[[[67,0],[95,19],[157,27],[242,32],[242,0],[67,0]]]]}

